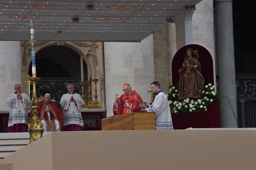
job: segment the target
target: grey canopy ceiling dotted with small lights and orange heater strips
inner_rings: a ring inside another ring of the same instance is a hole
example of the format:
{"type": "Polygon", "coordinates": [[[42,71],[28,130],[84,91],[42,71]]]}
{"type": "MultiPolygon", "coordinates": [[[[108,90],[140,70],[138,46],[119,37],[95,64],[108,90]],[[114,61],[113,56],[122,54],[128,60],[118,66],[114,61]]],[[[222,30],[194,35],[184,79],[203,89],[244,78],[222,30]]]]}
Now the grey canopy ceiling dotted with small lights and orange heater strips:
{"type": "Polygon", "coordinates": [[[33,19],[37,41],[139,42],[200,1],[1,0],[0,40],[30,40],[33,19]]]}

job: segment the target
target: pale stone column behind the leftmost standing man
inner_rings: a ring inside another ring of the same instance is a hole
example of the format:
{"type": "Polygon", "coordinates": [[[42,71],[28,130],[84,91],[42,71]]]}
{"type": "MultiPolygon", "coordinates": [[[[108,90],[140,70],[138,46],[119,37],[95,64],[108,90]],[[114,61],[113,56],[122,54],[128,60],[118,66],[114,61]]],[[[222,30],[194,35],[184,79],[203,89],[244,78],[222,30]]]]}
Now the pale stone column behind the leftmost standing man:
{"type": "Polygon", "coordinates": [[[6,99],[17,83],[22,84],[20,41],[0,41],[0,113],[9,112],[6,99]]]}

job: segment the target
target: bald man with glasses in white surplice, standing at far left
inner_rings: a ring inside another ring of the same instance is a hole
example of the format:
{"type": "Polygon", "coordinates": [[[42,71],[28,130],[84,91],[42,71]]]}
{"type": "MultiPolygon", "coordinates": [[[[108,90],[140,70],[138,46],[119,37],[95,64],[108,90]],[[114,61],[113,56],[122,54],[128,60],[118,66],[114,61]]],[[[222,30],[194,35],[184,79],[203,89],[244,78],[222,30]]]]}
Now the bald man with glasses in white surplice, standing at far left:
{"type": "Polygon", "coordinates": [[[27,132],[29,116],[27,108],[31,101],[29,95],[21,92],[20,84],[14,85],[15,92],[7,97],[7,105],[10,107],[8,132],[27,132]]]}

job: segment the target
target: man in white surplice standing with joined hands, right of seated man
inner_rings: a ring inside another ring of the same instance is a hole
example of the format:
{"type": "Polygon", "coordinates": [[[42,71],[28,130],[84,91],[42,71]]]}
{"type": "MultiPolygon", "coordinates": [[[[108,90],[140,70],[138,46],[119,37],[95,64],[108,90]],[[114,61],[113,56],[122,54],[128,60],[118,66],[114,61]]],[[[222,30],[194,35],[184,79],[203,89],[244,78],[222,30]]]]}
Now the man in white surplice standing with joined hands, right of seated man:
{"type": "Polygon", "coordinates": [[[78,93],[74,93],[74,85],[68,84],[68,93],[60,99],[63,109],[63,131],[82,130],[83,119],[80,109],[83,106],[83,99],[78,93]]]}

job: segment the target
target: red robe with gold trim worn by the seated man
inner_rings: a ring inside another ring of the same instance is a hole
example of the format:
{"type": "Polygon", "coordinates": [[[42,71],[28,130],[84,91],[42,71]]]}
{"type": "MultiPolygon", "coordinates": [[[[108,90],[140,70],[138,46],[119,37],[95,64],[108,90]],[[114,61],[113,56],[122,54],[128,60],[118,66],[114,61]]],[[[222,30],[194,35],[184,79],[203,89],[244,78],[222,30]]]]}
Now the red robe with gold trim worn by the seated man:
{"type": "MultiPolygon", "coordinates": [[[[53,101],[50,101],[48,104],[46,104],[44,101],[40,101],[38,102],[37,104],[38,106],[38,113],[37,113],[37,116],[38,118],[40,118],[40,120],[42,120],[43,116],[44,116],[44,119],[46,121],[46,125],[47,125],[47,131],[49,130],[50,131],[50,123],[52,123],[52,125],[55,125],[55,120],[58,120],[59,122],[59,125],[60,125],[60,131],[62,131],[62,126],[63,126],[63,112],[62,112],[62,109],[60,109],[60,107],[53,101]],[[45,112],[45,109],[46,109],[46,106],[48,106],[52,112],[50,112],[50,121],[49,121],[49,118],[48,118],[48,114],[47,112],[45,112]]],[[[30,118],[32,118],[34,115],[33,115],[33,110],[31,110],[30,112],[30,118]]],[[[56,131],[56,125],[53,126],[53,131],[56,131]]]]}

